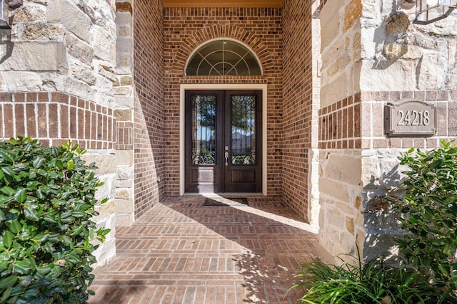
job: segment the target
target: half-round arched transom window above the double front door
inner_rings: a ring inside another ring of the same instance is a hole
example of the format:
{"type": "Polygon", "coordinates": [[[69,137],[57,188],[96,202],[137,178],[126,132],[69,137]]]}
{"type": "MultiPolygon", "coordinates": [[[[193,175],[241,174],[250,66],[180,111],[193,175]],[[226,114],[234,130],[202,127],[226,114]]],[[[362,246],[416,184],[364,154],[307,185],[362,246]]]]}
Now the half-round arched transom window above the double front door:
{"type": "Polygon", "coordinates": [[[262,75],[256,56],[231,40],[216,40],[201,46],[191,57],[186,75],[262,75]]]}

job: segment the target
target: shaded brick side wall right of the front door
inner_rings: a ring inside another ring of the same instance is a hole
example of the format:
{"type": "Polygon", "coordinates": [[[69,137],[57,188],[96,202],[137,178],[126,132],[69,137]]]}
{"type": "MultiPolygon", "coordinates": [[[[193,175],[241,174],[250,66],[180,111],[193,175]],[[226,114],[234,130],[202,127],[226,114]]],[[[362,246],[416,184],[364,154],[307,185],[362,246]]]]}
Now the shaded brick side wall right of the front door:
{"type": "Polygon", "coordinates": [[[309,150],[313,110],[311,1],[284,1],[283,198],[308,213],[309,150]]]}

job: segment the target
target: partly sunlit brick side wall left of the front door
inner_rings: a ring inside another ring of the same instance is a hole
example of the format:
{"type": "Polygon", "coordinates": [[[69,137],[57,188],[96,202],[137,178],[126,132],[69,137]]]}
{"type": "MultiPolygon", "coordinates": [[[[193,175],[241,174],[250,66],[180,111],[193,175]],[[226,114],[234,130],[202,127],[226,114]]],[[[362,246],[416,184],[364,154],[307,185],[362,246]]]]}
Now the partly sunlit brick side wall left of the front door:
{"type": "Polygon", "coordinates": [[[164,48],[161,2],[134,5],[135,218],[165,194],[164,48]],[[158,181],[158,177],[161,181],[158,181]]]}

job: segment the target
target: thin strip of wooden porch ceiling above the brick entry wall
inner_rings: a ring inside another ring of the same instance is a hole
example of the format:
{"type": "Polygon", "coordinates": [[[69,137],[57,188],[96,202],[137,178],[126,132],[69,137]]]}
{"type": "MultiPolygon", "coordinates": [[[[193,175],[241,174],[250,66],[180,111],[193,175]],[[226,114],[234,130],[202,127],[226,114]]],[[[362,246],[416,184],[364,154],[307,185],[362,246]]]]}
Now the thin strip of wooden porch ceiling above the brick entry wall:
{"type": "Polygon", "coordinates": [[[165,7],[282,7],[283,0],[163,0],[165,7]]]}

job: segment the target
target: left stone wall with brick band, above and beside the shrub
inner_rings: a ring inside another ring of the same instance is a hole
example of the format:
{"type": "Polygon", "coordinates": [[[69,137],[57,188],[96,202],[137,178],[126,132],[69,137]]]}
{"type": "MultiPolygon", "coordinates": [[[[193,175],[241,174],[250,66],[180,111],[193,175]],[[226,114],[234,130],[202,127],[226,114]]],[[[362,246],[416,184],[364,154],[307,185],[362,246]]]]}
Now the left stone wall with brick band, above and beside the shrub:
{"type": "Polygon", "coordinates": [[[31,136],[44,145],[71,140],[88,150],[86,161],[96,162],[106,182],[96,195],[111,198],[96,207],[97,225],[111,229],[95,252],[101,266],[116,254],[114,3],[24,1],[9,13],[11,31],[0,30],[0,137],[31,136]]]}

